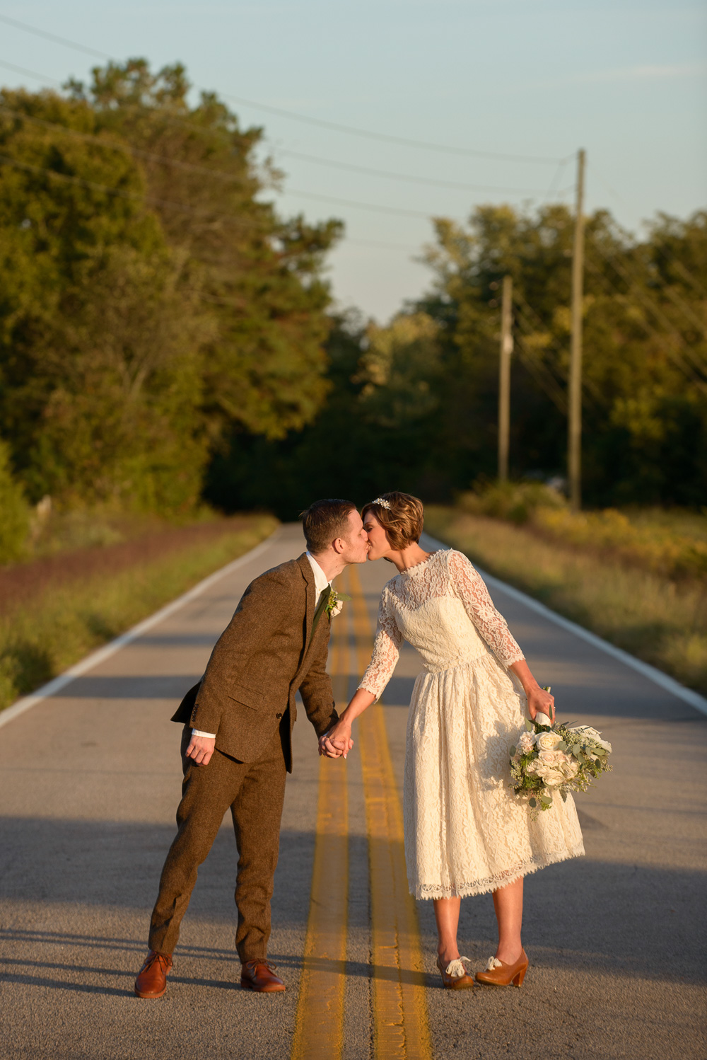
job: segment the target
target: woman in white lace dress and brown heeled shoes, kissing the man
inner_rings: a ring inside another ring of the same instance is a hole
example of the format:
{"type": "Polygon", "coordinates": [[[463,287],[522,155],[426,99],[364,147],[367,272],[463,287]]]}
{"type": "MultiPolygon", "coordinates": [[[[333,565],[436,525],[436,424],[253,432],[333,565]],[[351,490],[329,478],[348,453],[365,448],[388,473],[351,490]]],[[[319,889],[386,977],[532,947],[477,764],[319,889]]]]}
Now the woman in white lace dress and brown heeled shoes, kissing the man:
{"type": "Polygon", "coordinates": [[[415,682],[405,750],[403,816],[411,894],[434,902],[437,967],[448,989],[473,986],[457,949],[460,899],[492,891],[498,946],[476,979],[520,987],[523,877],[584,853],[570,795],[531,820],[510,788],[508,748],[555,701],[530,673],[505,619],[469,560],[419,545],[422,504],[384,493],[362,510],[368,560],[398,573],[383,588],[370,664],[337,725],[321,740],[330,758],[349,746],[351,723],[385,688],[402,640],[424,670],[415,682]]]}

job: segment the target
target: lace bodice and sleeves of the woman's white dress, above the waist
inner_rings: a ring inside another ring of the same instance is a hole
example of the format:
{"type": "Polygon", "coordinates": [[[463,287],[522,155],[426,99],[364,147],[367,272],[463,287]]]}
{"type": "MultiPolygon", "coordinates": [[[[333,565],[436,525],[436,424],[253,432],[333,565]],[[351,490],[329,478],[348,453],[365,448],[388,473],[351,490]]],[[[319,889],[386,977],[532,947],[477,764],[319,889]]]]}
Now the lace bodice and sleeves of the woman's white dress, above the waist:
{"type": "Polygon", "coordinates": [[[525,657],[478,572],[452,548],[433,552],[387,582],[378,610],[373,656],[359,688],[376,697],[381,694],[403,640],[417,649],[432,673],[491,652],[504,667],[525,657]]]}

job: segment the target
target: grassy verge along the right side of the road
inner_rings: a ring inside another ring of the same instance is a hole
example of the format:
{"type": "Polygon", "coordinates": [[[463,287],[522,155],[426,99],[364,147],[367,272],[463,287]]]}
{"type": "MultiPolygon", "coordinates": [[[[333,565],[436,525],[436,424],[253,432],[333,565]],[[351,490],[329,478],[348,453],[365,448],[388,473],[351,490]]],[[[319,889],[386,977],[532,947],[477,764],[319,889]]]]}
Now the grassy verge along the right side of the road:
{"type": "Polygon", "coordinates": [[[595,548],[543,540],[532,526],[429,507],[425,529],[638,658],[707,693],[707,590],[595,548]]]}

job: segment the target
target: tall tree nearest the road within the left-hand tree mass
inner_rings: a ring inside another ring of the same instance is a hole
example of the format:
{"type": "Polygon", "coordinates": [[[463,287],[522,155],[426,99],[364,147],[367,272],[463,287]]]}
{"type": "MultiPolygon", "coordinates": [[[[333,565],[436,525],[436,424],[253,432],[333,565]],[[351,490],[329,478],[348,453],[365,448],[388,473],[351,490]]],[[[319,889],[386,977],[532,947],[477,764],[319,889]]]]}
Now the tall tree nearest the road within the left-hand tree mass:
{"type": "Polygon", "coordinates": [[[322,266],[342,225],[280,220],[256,198],[282,176],[257,162],[262,130],[241,129],[212,93],[191,106],[181,65],[152,74],[144,59],[111,63],[71,87],[130,145],[169,244],[201,268],[217,325],[203,377],[212,437],[234,423],[269,438],[300,429],[326,393],[322,266]]]}

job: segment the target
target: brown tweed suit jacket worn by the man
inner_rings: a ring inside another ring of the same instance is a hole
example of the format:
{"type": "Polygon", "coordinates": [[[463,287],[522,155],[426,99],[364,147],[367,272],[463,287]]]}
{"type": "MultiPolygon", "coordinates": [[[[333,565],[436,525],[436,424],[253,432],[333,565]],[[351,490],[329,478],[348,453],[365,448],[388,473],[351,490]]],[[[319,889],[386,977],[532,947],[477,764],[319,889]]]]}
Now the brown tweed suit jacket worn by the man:
{"type": "Polygon", "coordinates": [[[312,635],[314,597],[314,573],[304,552],[251,582],[203,677],[171,720],[215,732],[218,750],[253,762],[270,746],[289,707],[283,745],[291,773],[297,690],[318,737],[339,720],[326,672],[331,618],[323,613],[312,635]]]}

